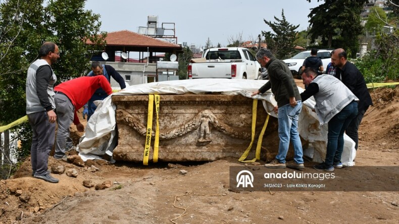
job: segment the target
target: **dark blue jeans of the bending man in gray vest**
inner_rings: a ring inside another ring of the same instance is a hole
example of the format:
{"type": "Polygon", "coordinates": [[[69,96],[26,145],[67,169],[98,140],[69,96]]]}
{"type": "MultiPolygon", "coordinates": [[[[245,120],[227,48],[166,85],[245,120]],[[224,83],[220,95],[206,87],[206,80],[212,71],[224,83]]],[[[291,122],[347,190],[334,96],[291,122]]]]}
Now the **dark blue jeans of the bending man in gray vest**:
{"type": "Polygon", "coordinates": [[[331,167],[333,163],[341,161],[343,133],[357,115],[358,102],[352,101],[328,122],[327,152],[324,161],[326,167],[331,167]]]}

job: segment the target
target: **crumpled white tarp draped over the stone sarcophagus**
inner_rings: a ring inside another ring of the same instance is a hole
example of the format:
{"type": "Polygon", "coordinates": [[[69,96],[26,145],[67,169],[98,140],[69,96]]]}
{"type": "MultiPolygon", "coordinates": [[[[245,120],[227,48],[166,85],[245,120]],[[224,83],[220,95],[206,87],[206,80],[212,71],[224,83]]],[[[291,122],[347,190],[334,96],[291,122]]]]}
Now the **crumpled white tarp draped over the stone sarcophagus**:
{"type": "MultiPolygon", "coordinates": [[[[123,91],[112,95],[148,95],[148,94],[202,94],[208,92],[220,92],[226,95],[243,95],[248,98],[260,99],[267,113],[276,117],[273,111],[277,102],[274,95],[270,92],[251,97],[252,92],[258,90],[267,80],[241,80],[241,79],[190,79],[153,82],[140,85],[129,86],[123,91]]],[[[303,92],[301,87],[298,87],[303,92]]],[[[313,97],[304,102],[304,107],[298,122],[298,132],[301,137],[309,141],[310,147],[306,151],[307,155],[312,155],[313,161],[321,162],[326,153],[327,125],[320,126],[316,114],[312,112],[315,101],[313,97]],[[314,151],[313,151],[314,150],[314,151]]],[[[100,103],[94,114],[87,122],[86,132],[78,145],[80,155],[84,154],[87,159],[89,155],[104,155],[107,153],[112,156],[115,148],[115,109],[111,96],[108,96],[100,103]]],[[[242,149],[243,151],[245,149],[242,149]]],[[[306,154],[305,153],[305,154],[306,154]]],[[[344,150],[342,153],[342,163],[344,165],[354,165],[356,150],[354,142],[350,138],[345,138],[344,150]]]]}

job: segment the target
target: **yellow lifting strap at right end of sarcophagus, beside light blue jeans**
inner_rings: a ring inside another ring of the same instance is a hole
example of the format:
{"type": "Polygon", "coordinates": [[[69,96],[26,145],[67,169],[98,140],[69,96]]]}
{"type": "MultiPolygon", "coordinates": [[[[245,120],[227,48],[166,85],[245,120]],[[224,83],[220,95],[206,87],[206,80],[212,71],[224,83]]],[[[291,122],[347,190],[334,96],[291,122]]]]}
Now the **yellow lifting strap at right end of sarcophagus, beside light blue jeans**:
{"type": "Polygon", "coordinates": [[[257,116],[257,106],[258,106],[258,100],[254,99],[253,104],[252,104],[252,133],[251,133],[251,143],[248,148],[245,149],[244,153],[241,155],[241,157],[238,159],[240,162],[255,162],[256,160],[261,159],[261,146],[262,146],[262,139],[263,135],[265,134],[265,130],[267,127],[267,124],[269,123],[269,114],[267,115],[265,124],[263,125],[262,131],[259,135],[258,138],[258,144],[256,147],[256,152],[255,152],[255,158],[251,160],[244,160],[248,156],[248,154],[251,151],[252,145],[254,144],[255,140],[255,127],[256,127],[256,116],[257,116]]]}

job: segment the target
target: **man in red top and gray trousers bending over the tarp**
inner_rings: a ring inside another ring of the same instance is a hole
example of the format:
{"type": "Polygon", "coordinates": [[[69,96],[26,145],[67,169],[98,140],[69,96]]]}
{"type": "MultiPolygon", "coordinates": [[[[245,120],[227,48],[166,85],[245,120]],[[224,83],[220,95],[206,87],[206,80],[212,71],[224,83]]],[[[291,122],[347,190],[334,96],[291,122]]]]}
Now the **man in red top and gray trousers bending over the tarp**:
{"type": "Polygon", "coordinates": [[[79,77],[63,82],[54,88],[56,92],[55,101],[58,123],[54,158],[67,160],[65,152],[73,146],[69,138],[69,127],[72,122],[76,125],[76,129],[79,132],[84,131],[84,127],[80,123],[76,111],[82,108],[99,87],[103,88],[108,95],[112,93],[111,85],[105,76],[79,77]]]}

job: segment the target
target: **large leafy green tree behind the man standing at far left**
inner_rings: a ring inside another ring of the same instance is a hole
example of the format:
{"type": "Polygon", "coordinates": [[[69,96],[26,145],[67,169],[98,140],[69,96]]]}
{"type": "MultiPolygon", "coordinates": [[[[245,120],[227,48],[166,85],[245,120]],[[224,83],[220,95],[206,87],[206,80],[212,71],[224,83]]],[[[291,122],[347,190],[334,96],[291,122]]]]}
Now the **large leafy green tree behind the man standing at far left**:
{"type": "MultiPolygon", "coordinates": [[[[6,0],[0,5],[0,125],[25,116],[25,79],[29,65],[38,58],[44,41],[59,45],[61,57],[53,66],[58,79],[80,76],[89,68],[88,52],[101,49],[86,39],[104,43],[99,15],[85,11],[84,0],[6,0]]],[[[31,129],[17,127],[20,154],[29,154],[31,129]]]]}

